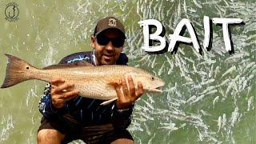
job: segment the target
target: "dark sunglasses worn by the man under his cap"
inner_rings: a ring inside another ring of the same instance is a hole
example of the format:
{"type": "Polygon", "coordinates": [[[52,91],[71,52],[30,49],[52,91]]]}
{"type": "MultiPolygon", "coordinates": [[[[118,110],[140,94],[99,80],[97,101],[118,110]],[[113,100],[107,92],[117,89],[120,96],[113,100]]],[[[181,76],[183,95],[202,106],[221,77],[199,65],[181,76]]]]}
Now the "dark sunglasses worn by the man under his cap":
{"type": "Polygon", "coordinates": [[[121,47],[125,43],[125,38],[107,38],[104,34],[96,36],[99,45],[106,46],[110,41],[114,47],[121,47]]]}

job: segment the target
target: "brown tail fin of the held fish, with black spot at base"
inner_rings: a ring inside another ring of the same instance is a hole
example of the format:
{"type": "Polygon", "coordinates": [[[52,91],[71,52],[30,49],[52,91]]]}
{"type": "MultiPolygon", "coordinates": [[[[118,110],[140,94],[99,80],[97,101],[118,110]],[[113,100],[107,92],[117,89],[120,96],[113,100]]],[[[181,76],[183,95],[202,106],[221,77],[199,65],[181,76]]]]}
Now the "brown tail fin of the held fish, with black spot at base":
{"type": "Polygon", "coordinates": [[[6,78],[1,88],[14,86],[30,78],[30,70],[34,69],[28,62],[10,54],[5,54],[8,58],[6,66],[6,78]]]}

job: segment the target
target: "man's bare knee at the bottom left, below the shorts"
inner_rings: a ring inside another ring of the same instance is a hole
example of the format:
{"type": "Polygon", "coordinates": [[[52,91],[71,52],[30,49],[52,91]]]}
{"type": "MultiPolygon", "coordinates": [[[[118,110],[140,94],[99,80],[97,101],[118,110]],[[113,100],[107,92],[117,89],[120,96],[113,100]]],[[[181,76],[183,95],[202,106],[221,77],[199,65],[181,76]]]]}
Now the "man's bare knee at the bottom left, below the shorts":
{"type": "Polygon", "coordinates": [[[38,131],[38,144],[40,143],[61,143],[65,135],[58,130],[43,129],[38,131]]]}

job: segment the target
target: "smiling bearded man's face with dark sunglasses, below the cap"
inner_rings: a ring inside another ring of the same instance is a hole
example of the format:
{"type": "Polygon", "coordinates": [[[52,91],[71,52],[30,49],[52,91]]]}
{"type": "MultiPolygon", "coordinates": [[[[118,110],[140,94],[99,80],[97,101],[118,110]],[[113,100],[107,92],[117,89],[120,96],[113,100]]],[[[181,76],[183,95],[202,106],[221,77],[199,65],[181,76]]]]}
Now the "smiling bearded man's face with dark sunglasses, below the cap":
{"type": "Polygon", "coordinates": [[[104,30],[96,37],[91,37],[91,45],[94,47],[98,66],[113,65],[118,60],[122,52],[122,46],[120,46],[122,40],[122,35],[113,29],[104,30]]]}

